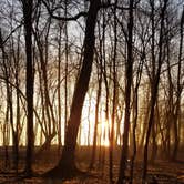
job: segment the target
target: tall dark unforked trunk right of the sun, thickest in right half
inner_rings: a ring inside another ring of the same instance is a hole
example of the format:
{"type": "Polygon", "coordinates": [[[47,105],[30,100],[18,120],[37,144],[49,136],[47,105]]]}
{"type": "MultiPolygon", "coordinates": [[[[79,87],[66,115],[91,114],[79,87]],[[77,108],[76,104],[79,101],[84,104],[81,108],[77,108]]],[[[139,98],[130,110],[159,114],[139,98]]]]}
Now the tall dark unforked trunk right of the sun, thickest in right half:
{"type": "Polygon", "coordinates": [[[130,0],[129,6],[129,23],[127,23],[127,62],[125,70],[125,119],[124,119],[124,132],[123,132],[123,146],[120,161],[120,172],[117,184],[124,183],[125,170],[127,162],[129,151],[129,132],[130,132],[130,114],[131,114],[131,85],[132,85],[132,70],[133,70],[133,6],[134,0],[130,0]]]}

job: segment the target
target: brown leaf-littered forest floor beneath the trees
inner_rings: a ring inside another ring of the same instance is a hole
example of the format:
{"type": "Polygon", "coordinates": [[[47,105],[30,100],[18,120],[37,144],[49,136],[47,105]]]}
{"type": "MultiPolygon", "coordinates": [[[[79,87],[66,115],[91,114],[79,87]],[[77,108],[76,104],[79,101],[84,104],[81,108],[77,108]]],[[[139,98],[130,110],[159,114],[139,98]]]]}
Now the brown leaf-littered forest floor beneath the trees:
{"type": "MultiPolygon", "coordinates": [[[[105,156],[105,163],[102,167],[98,164],[95,165],[95,170],[88,172],[86,175],[82,175],[72,180],[54,180],[54,178],[44,178],[42,174],[45,173],[48,170],[52,168],[59,159],[59,154],[57,151],[50,151],[50,153],[42,153],[40,154],[33,164],[33,171],[35,172],[34,176],[28,178],[24,177],[22,174],[16,175],[14,171],[12,170],[12,164],[8,164],[7,168],[4,167],[4,153],[2,152],[3,149],[0,149],[0,184],[108,184],[109,182],[109,163],[108,163],[108,150],[105,156]]],[[[154,184],[153,178],[159,184],[184,184],[184,157],[182,157],[181,153],[181,161],[177,162],[168,162],[163,160],[156,160],[154,164],[149,164],[147,170],[147,184],[154,184]]],[[[9,149],[9,160],[12,159],[11,150],[9,149]]],[[[99,159],[99,153],[98,156],[99,159]]],[[[119,159],[120,154],[114,154],[114,181],[117,180],[119,173],[119,159]]],[[[78,166],[83,171],[86,171],[90,156],[89,150],[80,149],[78,151],[78,166]]],[[[24,166],[24,149],[20,151],[20,168],[19,173],[21,173],[24,166]]],[[[141,184],[141,174],[142,174],[143,164],[141,161],[135,162],[134,167],[134,181],[133,184],[141,184]]],[[[129,170],[129,167],[127,167],[129,170]]],[[[129,175],[129,173],[126,173],[129,175]]],[[[129,183],[129,182],[127,182],[129,183]]]]}

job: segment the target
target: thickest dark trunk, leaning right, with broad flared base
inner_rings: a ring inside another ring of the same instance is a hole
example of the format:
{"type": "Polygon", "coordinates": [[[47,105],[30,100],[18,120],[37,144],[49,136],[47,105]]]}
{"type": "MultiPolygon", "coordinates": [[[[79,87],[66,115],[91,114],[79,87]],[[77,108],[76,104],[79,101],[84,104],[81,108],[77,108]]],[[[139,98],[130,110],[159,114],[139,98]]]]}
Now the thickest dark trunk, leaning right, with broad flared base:
{"type": "Polygon", "coordinates": [[[85,28],[84,57],[82,69],[79,74],[73,94],[71,113],[65,134],[65,144],[58,165],[49,171],[45,174],[47,176],[51,175],[52,177],[70,177],[78,174],[74,153],[76,147],[79,126],[81,123],[82,108],[91,76],[94,53],[93,50],[95,43],[94,29],[100,4],[100,0],[90,1],[85,28]]]}

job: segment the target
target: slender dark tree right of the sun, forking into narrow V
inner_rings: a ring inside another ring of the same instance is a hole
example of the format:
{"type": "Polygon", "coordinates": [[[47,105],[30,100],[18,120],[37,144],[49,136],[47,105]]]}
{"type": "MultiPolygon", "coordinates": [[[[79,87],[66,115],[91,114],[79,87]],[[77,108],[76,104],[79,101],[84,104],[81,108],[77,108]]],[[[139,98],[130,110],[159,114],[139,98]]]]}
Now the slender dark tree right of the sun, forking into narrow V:
{"type": "Polygon", "coordinates": [[[154,50],[154,39],[155,39],[155,28],[154,28],[154,11],[155,11],[155,2],[154,0],[151,1],[152,6],[152,62],[153,62],[153,71],[152,71],[152,84],[151,84],[151,100],[150,100],[150,112],[149,112],[149,126],[146,132],[145,145],[144,145],[144,161],[143,161],[143,183],[146,180],[146,171],[147,171],[147,152],[149,152],[149,141],[151,130],[154,125],[154,110],[157,99],[157,91],[159,91],[159,83],[160,83],[160,74],[161,74],[161,67],[164,61],[164,53],[163,53],[163,44],[164,44],[164,22],[165,22],[165,11],[167,9],[168,0],[164,0],[163,4],[161,4],[161,22],[160,22],[160,38],[159,38],[159,57],[157,57],[157,69],[155,69],[155,50],[154,50]]]}

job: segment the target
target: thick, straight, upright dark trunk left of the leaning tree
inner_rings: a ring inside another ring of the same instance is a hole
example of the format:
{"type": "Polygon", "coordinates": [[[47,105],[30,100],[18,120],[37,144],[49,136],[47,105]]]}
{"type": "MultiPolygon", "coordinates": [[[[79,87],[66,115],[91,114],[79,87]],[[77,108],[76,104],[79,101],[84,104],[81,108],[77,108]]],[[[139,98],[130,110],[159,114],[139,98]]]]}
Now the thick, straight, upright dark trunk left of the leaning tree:
{"type": "Polygon", "coordinates": [[[27,53],[27,156],[25,173],[32,174],[32,155],[34,145],[33,133],[33,62],[32,62],[32,0],[22,0],[24,31],[25,31],[25,53],[27,53]]]}

